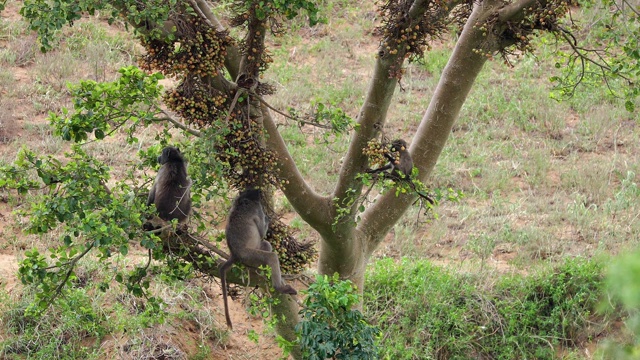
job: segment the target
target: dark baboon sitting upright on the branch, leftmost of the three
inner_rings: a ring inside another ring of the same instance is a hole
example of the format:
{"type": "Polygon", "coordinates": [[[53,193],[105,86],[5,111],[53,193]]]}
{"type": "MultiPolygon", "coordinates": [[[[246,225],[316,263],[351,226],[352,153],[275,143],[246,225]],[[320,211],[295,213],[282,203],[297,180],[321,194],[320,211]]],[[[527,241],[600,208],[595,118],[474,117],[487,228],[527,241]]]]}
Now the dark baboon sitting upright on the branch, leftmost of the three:
{"type": "Polygon", "coordinates": [[[149,191],[147,206],[156,205],[158,216],[165,221],[178,219],[184,223],[191,212],[191,181],[187,179],[187,164],[178,148],[167,146],[158,156],[162,164],[149,191]]]}

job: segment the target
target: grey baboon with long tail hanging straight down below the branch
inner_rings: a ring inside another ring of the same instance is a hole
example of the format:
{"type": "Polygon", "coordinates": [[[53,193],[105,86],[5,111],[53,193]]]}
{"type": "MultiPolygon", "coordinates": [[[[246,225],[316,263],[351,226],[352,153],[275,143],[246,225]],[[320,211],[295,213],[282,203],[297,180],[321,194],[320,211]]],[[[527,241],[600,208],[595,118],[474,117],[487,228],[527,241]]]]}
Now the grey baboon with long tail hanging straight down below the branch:
{"type": "Polygon", "coordinates": [[[257,268],[268,265],[271,268],[271,282],[273,287],[283,293],[296,295],[297,292],[282,280],[280,261],[272,251],[271,244],[263,240],[269,228],[269,219],[260,203],[261,191],[247,189],[241,192],[233,201],[229,219],[227,220],[226,237],[231,256],[220,266],[220,283],[224,302],[224,315],[227,326],[232,329],[227,304],[227,271],[234,263],[239,262],[257,268]]]}

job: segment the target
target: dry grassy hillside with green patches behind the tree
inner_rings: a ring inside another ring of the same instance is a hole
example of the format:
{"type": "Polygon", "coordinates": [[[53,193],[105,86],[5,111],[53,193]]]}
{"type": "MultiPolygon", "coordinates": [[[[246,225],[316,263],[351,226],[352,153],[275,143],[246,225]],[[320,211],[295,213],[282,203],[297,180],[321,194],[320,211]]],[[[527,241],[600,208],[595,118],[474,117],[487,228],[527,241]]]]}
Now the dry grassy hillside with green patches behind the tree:
{"type": "MultiPolygon", "coordinates": [[[[122,24],[109,26],[96,16],[64,29],[57,49],[42,54],[18,6],[10,0],[0,14],[0,164],[13,161],[22,146],[62,154],[68,144],[52,136],[46,116],[71,107],[66,84],[112,80],[141,51],[122,24]]],[[[355,117],[379,40],[372,32],[375,7],[346,1],[323,6],[328,24],[309,28],[296,21],[290,33],[270,40],[274,63],[265,81],[278,93],[267,100],[300,110],[329,102],[355,117]]],[[[573,16],[587,26],[585,35],[596,37],[590,26],[605,14],[576,8],[573,16]]],[[[408,66],[390,109],[388,136],[413,137],[454,44],[455,38],[439,39],[424,63],[408,66]]],[[[383,327],[387,358],[591,359],[601,356],[594,354],[604,339],[628,336],[619,313],[594,310],[604,300],[606,264],[640,239],[640,118],[604,88],[552,100],[548,78],[556,71],[557,45],[548,38],[537,45],[536,56],[513,59],[513,67],[487,64],[427,183],[465,196],[440,204],[431,218],[419,217],[417,208],[408,211],[370,265],[365,312],[383,327]]],[[[327,144],[318,130],[295,124],[281,129],[304,176],[320,192],[330,189],[348,135],[327,144]]],[[[116,138],[92,143],[88,151],[117,177],[138,148],[153,141],[153,131],[145,130],[136,147],[116,138]]],[[[278,204],[279,211],[291,211],[286,200],[278,204]]],[[[262,331],[257,317],[241,331],[225,331],[219,285],[208,279],[166,283],[158,274],[153,292],[170,305],[164,324],[122,290],[98,296],[84,286],[45,320],[29,323],[22,310],[33,289],[17,284],[15,263],[26,249],[46,249],[58,238],[23,234],[25,219],[11,213],[22,205],[0,189],[0,264],[7,264],[0,294],[2,356],[277,356],[271,332],[252,341],[251,329],[262,331]]],[[[302,238],[318,239],[295,214],[288,218],[302,238]]],[[[129,261],[135,259],[122,266],[129,261]]],[[[81,273],[87,282],[107,276],[89,262],[81,273]]]]}

